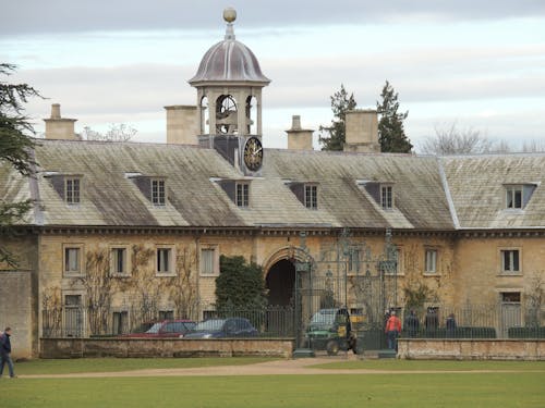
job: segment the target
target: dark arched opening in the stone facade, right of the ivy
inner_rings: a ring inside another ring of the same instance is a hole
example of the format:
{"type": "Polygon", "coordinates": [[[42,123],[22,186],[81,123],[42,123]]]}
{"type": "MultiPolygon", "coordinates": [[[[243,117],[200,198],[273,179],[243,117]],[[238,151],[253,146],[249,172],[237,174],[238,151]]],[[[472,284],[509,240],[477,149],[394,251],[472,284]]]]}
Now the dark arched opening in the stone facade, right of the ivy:
{"type": "Polygon", "coordinates": [[[295,265],[288,259],[274,263],[266,279],[270,306],[289,306],[295,284],[295,265]]]}

